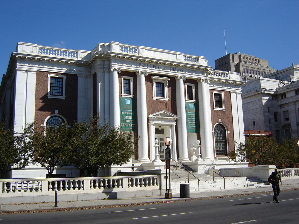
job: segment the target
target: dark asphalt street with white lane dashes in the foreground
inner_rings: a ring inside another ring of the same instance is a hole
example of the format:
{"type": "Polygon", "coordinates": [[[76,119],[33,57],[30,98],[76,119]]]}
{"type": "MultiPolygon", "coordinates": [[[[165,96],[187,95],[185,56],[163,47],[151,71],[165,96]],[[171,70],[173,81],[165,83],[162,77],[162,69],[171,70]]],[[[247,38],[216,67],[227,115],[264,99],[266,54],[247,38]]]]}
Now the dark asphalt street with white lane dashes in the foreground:
{"type": "Polygon", "coordinates": [[[148,204],[128,207],[87,209],[78,211],[2,214],[0,224],[69,224],[69,223],[283,223],[298,224],[299,191],[283,191],[280,203],[273,194],[254,194],[148,204]]]}

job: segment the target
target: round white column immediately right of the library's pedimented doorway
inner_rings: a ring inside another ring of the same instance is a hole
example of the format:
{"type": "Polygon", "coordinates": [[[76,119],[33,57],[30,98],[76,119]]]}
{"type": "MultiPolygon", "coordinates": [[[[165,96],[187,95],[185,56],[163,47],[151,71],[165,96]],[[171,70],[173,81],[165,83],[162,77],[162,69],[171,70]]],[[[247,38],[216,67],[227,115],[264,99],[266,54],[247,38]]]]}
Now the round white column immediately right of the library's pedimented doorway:
{"type": "Polygon", "coordinates": [[[184,96],[184,82],[186,77],[176,77],[176,110],[178,119],[179,161],[190,161],[188,157],[187,124],[184,96]]]}

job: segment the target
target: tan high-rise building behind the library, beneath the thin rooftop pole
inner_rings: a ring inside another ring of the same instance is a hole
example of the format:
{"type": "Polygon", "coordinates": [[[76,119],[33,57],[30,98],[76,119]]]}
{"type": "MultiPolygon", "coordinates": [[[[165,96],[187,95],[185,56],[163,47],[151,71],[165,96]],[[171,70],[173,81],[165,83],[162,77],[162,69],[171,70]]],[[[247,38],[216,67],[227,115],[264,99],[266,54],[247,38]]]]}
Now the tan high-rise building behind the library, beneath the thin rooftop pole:
{"type": "Polygon", "coordinates": [[[215,60],[215,69],[238,72],[240,81],[245,82],[276,71],[269,67],[267,60],[242,53],[227,54],[215,60]]]}

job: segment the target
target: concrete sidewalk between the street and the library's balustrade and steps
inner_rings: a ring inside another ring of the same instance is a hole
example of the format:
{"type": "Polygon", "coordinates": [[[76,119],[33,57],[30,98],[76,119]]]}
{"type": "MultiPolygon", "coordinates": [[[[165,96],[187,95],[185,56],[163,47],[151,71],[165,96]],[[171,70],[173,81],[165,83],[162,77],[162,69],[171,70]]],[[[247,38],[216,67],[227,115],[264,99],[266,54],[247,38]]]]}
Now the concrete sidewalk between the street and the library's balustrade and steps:
{"type": "MultiPolygon", "coordinates": [[[[281,185],[280,191],[299,190],[299,184],[281,185]]],[[[30,213],[30,212],[42,212],[42,211],[66,211],[66,210],[80,210],[91,208],[109,208],[109,207],[121,207],[121,206],[134,206],[153,203],[168,203],[177,201],[188,200],[202,200],[217,197],[234,197],[239,195],[248,194],[263,194],[273,193],[271,187],[263,188],[243,188],[243,189],[231,189],[222,191],[211,191],[201,193],[190,193],[190,198],[181,198],[180,194],[173,195],[172,199],[165,199],[162,196],[151,197],[137,197],[127,199],[111,199],[111,200],[90,200],[90,201],[76,201],[76,202],[57,202],[57,207],[54,207],[55,203],[34,203],[34,204],[11,204],[1,205],[2,214],[9,213],[30,213]]],[[[164,193],[163,193],[164,194],[164,193]]]]}

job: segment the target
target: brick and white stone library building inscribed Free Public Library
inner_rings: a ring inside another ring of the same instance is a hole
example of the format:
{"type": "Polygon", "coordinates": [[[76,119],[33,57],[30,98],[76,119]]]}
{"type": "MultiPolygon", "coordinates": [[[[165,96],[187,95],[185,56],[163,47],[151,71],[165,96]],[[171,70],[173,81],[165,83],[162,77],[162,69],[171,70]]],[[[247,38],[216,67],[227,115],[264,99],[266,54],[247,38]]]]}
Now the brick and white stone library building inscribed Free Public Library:
{"type": "MultiPolygon", "coordinates": [[[[118,42],[99,43],[92,50],[19,42],[2,79],[0,118],[22,131],[33,121],[50,127],[100,114],[121,125],[121,131],[134,131],[139,136],[135,156],[99,175],[163,169],[164,137],[173,139],[173,160],[207,173],[233,166],[228,151],[244,141],[242,85],[239,73],[212,70],[203,56],[118,42]],[[196,161],[190,152],[195,147],[200,148],[196,161]]],[[[45,173],[30,164],[10,177],[45,173]]],[[[78,175],[74,168],[54,173],[78,175]]]]}

